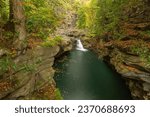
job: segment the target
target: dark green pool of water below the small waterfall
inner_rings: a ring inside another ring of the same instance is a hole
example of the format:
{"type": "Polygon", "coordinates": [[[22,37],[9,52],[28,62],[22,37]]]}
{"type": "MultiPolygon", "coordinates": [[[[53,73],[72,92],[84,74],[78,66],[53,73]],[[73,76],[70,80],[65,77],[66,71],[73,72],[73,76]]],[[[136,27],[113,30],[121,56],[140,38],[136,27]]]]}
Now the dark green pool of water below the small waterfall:
{"type": "Polygon", "coordinates": [[[57,87],[65,100],[127,100],[124,80],[90,51],[74,50],[55,64],[57,87]]]}

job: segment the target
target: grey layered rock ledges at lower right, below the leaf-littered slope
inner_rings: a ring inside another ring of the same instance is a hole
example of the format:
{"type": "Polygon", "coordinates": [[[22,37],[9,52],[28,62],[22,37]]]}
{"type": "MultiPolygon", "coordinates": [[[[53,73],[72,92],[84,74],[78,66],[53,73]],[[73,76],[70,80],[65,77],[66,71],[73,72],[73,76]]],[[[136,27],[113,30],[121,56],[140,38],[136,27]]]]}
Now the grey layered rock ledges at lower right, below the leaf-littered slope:
{"type": "Polygon", "coordinates": [[[139,56],[124,53],[117,48],[109,51],[105,57],[125,78],[134,99],[150,99],[150,72],[145,61],[139,56]]]}

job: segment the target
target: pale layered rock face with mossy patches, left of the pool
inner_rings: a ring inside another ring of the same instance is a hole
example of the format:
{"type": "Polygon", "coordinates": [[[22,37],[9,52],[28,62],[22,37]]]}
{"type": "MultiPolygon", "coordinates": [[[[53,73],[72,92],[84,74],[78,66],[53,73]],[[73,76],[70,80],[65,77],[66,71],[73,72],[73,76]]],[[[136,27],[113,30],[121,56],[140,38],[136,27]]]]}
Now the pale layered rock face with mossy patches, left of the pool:
{"type": "Polygon", "coordinates": [[[71,49],[71,41],[63,40],[60,46],[37,46],[16,57],[13,70],[0,72],[0,99],[57,99],[52,66],[58,54],[71,49]]]}

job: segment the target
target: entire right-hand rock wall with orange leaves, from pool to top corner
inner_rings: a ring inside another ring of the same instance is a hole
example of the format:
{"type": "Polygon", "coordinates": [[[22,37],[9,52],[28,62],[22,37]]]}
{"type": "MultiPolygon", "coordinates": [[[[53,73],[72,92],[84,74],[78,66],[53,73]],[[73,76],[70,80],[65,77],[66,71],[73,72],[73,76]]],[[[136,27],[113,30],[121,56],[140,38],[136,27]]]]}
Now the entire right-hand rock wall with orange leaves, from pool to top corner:
{"type": "Polygon", "coordinates": [[[129,86],[133,99],[150,99],[150,7],[140,1],[124,11],[119,40],[93,40],[89,46],[107,61],[129,86]]]}

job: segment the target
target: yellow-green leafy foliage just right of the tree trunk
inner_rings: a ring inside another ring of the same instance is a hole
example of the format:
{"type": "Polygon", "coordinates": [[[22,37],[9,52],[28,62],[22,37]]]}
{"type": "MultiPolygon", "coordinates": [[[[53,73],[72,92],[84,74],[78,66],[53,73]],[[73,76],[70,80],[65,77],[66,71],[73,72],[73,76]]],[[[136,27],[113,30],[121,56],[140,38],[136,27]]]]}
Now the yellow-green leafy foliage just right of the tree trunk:
{"type": "Polygon", "coordinates": [[[46,39],[58,25],[59,18],[48,0],[26,0],[25,11],[27,30],[37,37],[46,39]]]}

